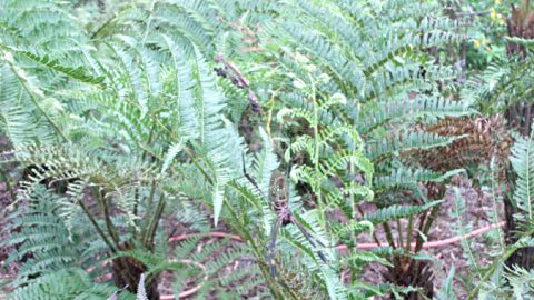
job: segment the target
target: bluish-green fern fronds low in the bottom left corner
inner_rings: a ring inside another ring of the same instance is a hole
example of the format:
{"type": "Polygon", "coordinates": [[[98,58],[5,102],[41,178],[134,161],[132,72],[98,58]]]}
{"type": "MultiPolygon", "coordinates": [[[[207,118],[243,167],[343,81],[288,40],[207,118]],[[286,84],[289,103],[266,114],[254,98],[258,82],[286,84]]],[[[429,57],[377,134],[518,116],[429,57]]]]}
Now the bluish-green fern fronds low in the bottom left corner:
{"type": "MultiPolygon", "coordinates": [[[[96,232],[88,227],[69,230],[66,199],[53,191],[39,186],[30,199],[31,207],[12,214],[4,229],[18,231],[3,244],[17,246],[7,262],[26,260],[8,299],[108,299],[117,288],[93,282],[105,270],[87,271],[101,263],[99,256],[106,251],[96,232]]],[[[85,219],[82,214],[76,218],[85,219]]],[[[120,299],[132,297],[125,293],[120,299]]]]}

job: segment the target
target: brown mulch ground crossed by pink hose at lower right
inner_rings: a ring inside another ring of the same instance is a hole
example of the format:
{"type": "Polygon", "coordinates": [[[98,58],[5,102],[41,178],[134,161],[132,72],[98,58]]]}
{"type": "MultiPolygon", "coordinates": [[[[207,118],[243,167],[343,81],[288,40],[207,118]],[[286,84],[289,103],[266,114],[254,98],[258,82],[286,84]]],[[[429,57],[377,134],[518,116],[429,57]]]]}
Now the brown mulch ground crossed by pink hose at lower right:
{"type": "MultiPolygon", "coordinates": [[[[464,212],[458,219],[455,208],[455,191],[449,186],[445,202],[442,204],[438,217],[434,222],[427,237],[428,242],[444,241],[453,237],[464,236],[471,231],[504,221],[503,206],[492,198],[487,192],[477,192],[472,187],[469,180],[455,177],[452,180],[454,187],[459,190],[461,201],[464,203],[464,212]],[[462,234],[461,228],[465,231],[462,234]]],[[[402,228],[406,228],[407,222],[402,222],[402,228]]],[[[396,226],[392,224],[392,230],[397,232],[396,226]]],[[[403,230],[402,230],[403,231],[403,230]]],[[[376,228],[376,236],[379,241],[386,241],[386,236],[380,227],[376,228]]],[[[503,230],[498,227],[474,238],[462,242],[446,243],[441,247],[427,248],[422,251],[423,254],[433,259],[432,271],[434,273],[434,291],[438,291],[443,281],[447,278],[452,268],[455,269],[453,289],[457,299],[466,299],[473,281],[477,281],[478,274],[471,268],[472,261],[481,267],[486,267],[500,254],[502,241],[504,239],[503,230]],[[468,250],[464,246],[468,244],[468,250]],[[469,256],[472,258],[469,258],[469,256]]],[[[373,242],[370,237],[362,237],[360,242],[373,242]]],[[[364,273],[364,280],[372,283],[384,283],[386,268],[378,264],[369,264],[364,273]]]]}

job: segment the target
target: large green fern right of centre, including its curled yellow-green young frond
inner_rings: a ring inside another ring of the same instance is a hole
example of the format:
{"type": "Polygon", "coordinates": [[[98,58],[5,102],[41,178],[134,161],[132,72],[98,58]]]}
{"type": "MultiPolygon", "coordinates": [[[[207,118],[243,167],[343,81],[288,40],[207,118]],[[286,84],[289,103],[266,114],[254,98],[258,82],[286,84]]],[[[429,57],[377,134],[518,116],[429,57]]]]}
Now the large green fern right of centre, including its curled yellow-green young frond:
{"type": "MultiPolygon", "coordinates": [[[[453,147],[465,136],[427,129],[475,112],[441,96],[457,72],[436,63],[429,50],[463,39],[455,33],[457,21],[437,3],[417,1],[295,0],[284,6],[280,18],[267,22],[260,34],[268,53],[264,59],[276,58],[276,63],[268,71],[257,68],[258,81],[270,79],[258,90],[270,91],[264,106],[273,116],[267,121],[284,134],[279,142],[287,144],[286,161],[299,164],[293,178],[305,200],[320,213],[342,211],[354,220],[359,203],[372,199],[366,191],[373,190],[378,210],[377,218],[369,218],[376,223],[387,230],[388,221],[406,218],[412,223],[424,216],[429,230],[443,186],[457,171],[428,171],[431,166],[407,153],[453,147]],[[354,128],[357,134],[350,133],[354,128]],[[432,187],[431,194],[421,190],[422,183],[432,187]],[[397,197],[392,194],[403,189],[417,191],[421,199],[393,202],[397,197]]],[[[347,242],[346,234],[343,239],[347,242]]]]}

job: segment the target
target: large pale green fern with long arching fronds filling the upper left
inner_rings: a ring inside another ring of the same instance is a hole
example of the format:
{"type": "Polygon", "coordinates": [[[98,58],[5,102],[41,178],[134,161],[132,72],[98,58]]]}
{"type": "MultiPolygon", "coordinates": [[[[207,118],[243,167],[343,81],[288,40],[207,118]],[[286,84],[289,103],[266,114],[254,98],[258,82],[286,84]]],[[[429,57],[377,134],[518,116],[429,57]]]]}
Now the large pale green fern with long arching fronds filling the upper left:
{"type": "MultiPolygon", "coordinates": [[[[57,206],[67,223],[61,231],[65,234],[59,237],[75,237],[80,228],[90,224],[100,242],[105,242],[105,252],[129,249],[135,240],[141,243],[136,246],[140,247],[138,250],[150,253],[160,218],[171,212],[169,208],[187,207],[207,219],[199,208],[192,207],[191,198],[214,208],[217,223],[228,201],[229,184],[243,178],[244,147],[236,127],[222,117],[227,99],[209,67],[215,33],[208,30],[209,23],[198,19],[195,7],[161,2],[156,10],[127,9],[90,41],[85,38],[87,32],[69,18],[67,7],[60,8],[53,1],[8,2],[6,8],[12,14],[0,13],[2,20],[13,22],[13,30],[21,19],[11,17],[27,11],[37,18],[42,9],[57,12],[57,22],[65,22],[68,30],[80,37],[71,41],[69,49],[76,49],[70,59],[51,44],[33,44],[36,38],[31,34],[22,39],[14,31],[3,30],[0,38],[2,129],[14,147],[14,160],[28,169],[22,194],[30,197],[41,184],[65,184],[66,197],[57,206]],[[180,14],[186,9],[190,12],[180,14]],[[136,17],[132,11],[139,14],[136,17]],[[169,13],[182,18],[172,19],[169,13]],[[147,18],[139,19],[142,16],[147,18]],[[166,22],[170,21],[175,24],[169,28],[166,22]],[[121,22],[134,27],[113,31],[113,24],[121,22]],[[146,30],[134,30],[140,27],[146,30]],[[162,27],[167,30],[159,30],[162,27]],[[190,159],[195,160],[196,171],[190,168],[190,159]],[[178,161],[185,166],[179,167],[178,161]],[[191,190],[176,190],[187,186],[176,184],[187,182],[184,170],[189,170],[187,178],[195,174],[188,180],[212,192],[189,194],[191,190]],[[169,204],[174,201],[176,207],[169,204]],[[79,216],[90,222],[73,222],[79,216]]],[[[51,30],[46,26],[47,18],[42,19],[43,31],[51,30]]],[[[11,161],[11,157],[6,159],[11,161]]],[[[51,231],[57,233],[59,229],[51,231]]],[[[47,246],[49,241],[30,233],[13,236],[12,242],[28,242],[36,251],[51,247],[47,246]]],[[[71,262],[77,257],[62,252],[68,250],[67,244],[56,248],[49,252],[57,254],[58,263],[71,262]]],[[[264,253],[257,254],[261,259],[264,253]]],[[[56,270],[50,263],[38,262],[30,260],[28,272],[21,276],[56,270]]],[[[61,268],[67,267],[57,267],[61,268]]],[[[137,284],[130,284],[130,290],[134,286],[137,284]]]]}

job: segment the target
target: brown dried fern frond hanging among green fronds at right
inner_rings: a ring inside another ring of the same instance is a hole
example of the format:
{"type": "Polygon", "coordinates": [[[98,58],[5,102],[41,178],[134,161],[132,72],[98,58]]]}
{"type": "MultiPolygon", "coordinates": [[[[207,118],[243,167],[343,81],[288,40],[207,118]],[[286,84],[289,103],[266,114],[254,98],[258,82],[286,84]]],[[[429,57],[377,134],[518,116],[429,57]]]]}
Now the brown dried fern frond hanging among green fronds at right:
{"type": "Polygon", "coordinates": [[[461,137],[445,147],[409,151],[403,158],[434,171],[447,171],[466,166],[486,164],[496,158],[500,176],[510,156],[512,137],[501,116],[491,118],[445,118],[443,121],[422,128],[443,137],[461,137]]]}

